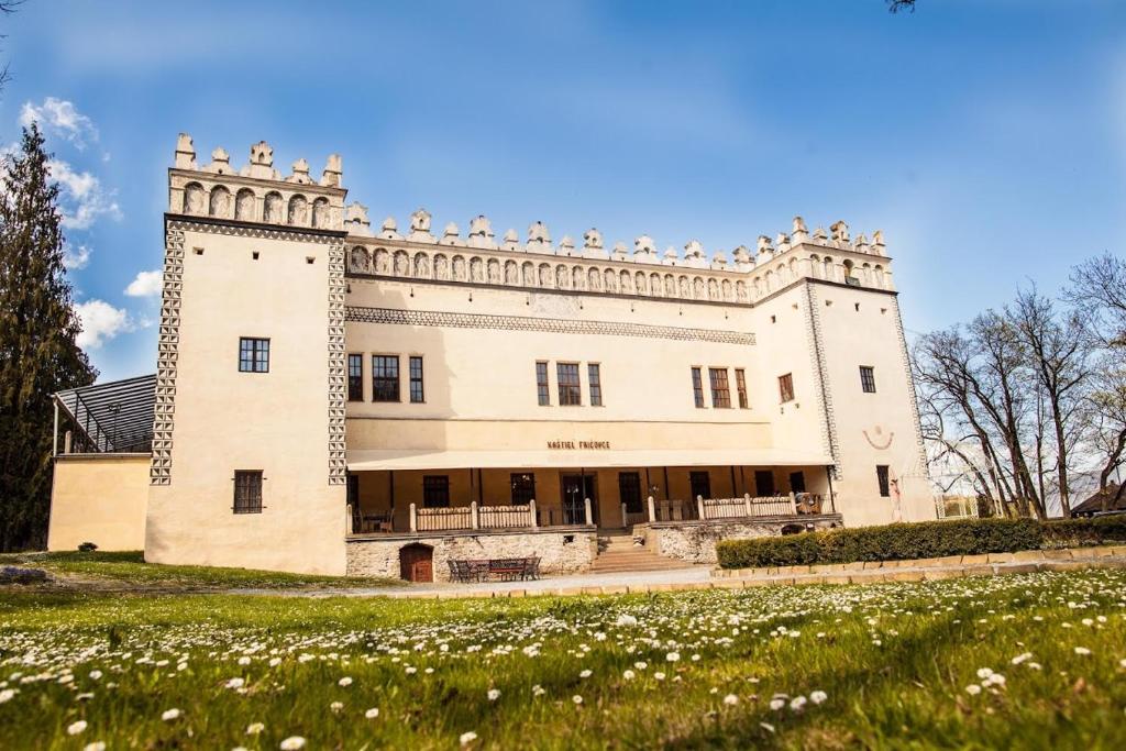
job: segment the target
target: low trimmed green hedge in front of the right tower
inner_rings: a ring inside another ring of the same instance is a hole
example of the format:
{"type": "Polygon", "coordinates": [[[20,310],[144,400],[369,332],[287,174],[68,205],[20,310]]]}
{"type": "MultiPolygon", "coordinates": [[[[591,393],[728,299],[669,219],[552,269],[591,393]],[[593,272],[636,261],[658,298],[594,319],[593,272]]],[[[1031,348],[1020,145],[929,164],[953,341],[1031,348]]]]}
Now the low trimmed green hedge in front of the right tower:
{"type": "Polygon", "coordinates": [[[854,561],[900,561],[944,555],[1012,553],[1037,549],[1045,538],[1101,542],[1106,533],[1126,529],[1126,520],[1110,519],[1040,524],[1035,519],[956,519],[894,524],[883,527],[841,528],[781,537],[726,539],[716,544],[724,569],[789,566],[854,561]]]}

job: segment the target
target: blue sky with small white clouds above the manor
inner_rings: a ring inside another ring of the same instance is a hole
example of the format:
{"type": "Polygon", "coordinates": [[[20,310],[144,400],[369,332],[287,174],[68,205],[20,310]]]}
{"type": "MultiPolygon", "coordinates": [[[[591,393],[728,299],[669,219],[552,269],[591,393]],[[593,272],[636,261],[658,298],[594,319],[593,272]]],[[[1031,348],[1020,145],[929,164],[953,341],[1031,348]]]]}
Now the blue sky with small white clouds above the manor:
{"type": "Polygon", "coordinates": [[[204,161],[339,152],[375,223],[426,206],[709,252],[794,214],[883,229],[913,331],[1121,252],[1123,2],[28,0],[0,25],[0,138],[47,128],[102,379],[155,369],[138,275],[181,131],[204,161]]]}

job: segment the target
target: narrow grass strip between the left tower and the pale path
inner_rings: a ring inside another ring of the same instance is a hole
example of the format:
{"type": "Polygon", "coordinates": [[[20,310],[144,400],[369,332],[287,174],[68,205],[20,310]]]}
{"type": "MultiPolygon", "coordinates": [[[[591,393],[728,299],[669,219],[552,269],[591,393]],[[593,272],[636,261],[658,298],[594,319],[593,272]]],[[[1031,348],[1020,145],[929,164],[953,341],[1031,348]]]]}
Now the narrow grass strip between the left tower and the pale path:
{"type": "Polygon", "coordinates": [[[0,565],[43,569],[62,579],[128,584],[137,587],[167,587],[172,589],[283,589],[283,588],[352,588],[402,584],[388,579],[356,576],[316,576],[252,569],[221,569],[218,566],[171,566],[145,563],[140,551],[127,553],[6,553],[0,554],[0,565]]]}

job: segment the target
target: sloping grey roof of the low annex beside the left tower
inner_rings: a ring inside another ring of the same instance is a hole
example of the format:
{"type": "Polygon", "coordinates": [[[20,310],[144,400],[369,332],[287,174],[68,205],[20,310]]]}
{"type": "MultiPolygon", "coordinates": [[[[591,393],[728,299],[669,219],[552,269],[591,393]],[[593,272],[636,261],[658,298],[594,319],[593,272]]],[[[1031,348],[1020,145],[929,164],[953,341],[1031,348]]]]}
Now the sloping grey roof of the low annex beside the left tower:
{"type": "Polygon", "coordinates": [[[55,394],[98,453],[149,452],[157,403],[157,376],[97,383],[55,394]]]}

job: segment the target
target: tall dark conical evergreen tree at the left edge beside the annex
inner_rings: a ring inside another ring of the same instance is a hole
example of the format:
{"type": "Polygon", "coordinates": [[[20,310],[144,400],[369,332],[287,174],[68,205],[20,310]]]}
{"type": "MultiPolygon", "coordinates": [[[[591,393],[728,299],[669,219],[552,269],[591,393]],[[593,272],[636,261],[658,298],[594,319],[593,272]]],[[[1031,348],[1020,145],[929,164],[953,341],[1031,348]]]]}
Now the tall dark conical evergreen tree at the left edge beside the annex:
{"type": "Polygon", "coordinates": [[[0,551],[43,548],[51,394],[93,382],[63,267],[59,186],[34,123],[0,166],[0,551]]]}

